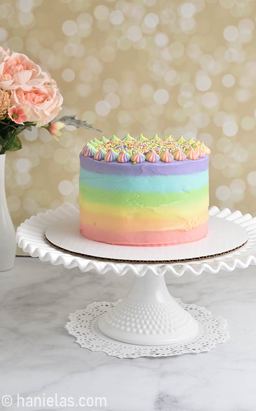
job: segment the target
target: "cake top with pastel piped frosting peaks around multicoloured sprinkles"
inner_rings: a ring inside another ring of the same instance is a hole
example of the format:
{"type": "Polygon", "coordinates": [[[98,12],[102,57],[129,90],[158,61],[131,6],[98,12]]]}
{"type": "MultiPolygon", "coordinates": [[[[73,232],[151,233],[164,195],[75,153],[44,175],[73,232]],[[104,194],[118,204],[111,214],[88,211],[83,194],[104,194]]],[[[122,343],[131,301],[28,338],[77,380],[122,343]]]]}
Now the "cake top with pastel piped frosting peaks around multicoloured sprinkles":
{"type": "Polygon", "coordinates": [[[183,136],[174,140],[172,136],[164,140],[155,135],[152,139],[147,139],[142,134],[135,139],[127,134],[123,139],[115,135],[110,140],[104,136],[101,140],[94,139],[88,142],[82,149],[81,155],[93,157],[97,161],[134,164],[143,161],[155,163],[163,161],[198,160],[209,155],[210,150],[199,140],[190,138],[185,140],[183,136]]]}

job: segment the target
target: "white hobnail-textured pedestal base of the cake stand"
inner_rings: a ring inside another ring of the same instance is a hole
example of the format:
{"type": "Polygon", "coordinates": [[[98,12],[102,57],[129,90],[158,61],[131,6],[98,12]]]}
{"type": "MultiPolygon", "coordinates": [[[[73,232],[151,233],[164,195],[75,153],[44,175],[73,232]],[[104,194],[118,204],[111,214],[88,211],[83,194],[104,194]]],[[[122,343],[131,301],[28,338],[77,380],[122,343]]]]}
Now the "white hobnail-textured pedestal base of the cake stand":
{"type": "Polygon", "coordinates": [[[190,340],[198,323],[169,294],[164,276],[135,277],[129,294],[98,321],[108,337],[130,344],[166,345],[190,340]]]}

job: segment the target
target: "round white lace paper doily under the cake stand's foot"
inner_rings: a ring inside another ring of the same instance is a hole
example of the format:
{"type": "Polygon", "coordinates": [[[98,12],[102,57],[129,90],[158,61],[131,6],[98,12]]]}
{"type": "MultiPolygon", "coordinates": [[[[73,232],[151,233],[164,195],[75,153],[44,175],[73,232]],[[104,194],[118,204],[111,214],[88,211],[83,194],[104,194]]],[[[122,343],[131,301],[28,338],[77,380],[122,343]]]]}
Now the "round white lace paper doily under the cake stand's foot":
{"type": "Polygon", "coordinates": [[[108,356],[118,358],[169,357],[186,353],[205,352],[215,348],[217,344],[225,343],[229,339],[227,321],[221,316],[214,316],[206,308],[195,304],[184,304],[179,298],[175,298],[175,300],[182,308],[189,311],[199,324],[197,337],[184,343],[148,346],[125,344],[106,337],[98,328],[98,319],[121,300],[116,303],[94,302],[84,310],[77,310],[69,315],[70,321],[65,328],[69,334],[74,335],[76,342],[82,348],[88,348],[91,351],[102,351],[108,356]]]}

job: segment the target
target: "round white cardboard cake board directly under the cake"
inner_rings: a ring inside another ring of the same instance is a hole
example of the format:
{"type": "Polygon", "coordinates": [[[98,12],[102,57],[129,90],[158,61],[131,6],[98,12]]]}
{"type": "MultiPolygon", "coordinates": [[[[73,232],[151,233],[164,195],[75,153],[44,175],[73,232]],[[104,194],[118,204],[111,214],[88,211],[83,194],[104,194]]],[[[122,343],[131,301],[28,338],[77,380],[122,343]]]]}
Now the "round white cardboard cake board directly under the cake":
{"type": "Polygon", "coordinates": [[[164,247],[127,247],[92,241],[79,232],[79,212],[63,224],[49,225],[45,236],[51,244],[71,253],[111,261],[173,262],[222,255],[243,246],[248,240],[245,229],[222,218],[209,217],[209,232],[205,238],[186,244],[164,247]]]}

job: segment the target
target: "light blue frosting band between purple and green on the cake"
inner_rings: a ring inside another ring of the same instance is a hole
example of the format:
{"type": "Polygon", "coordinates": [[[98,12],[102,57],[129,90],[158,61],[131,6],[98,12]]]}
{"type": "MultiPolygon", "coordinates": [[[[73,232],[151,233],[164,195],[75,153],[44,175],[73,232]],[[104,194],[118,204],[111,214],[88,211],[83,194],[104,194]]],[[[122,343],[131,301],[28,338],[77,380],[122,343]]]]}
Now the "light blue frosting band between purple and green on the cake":
{"type": "Polygon", "coordinates": [[[110,191],[133,193],[182,193],[203,188],[209,182],[208,170],[192,174],[169,176],[124,176],[90,172],[80,169],[80,181],[87,185],[110,191]]]}

